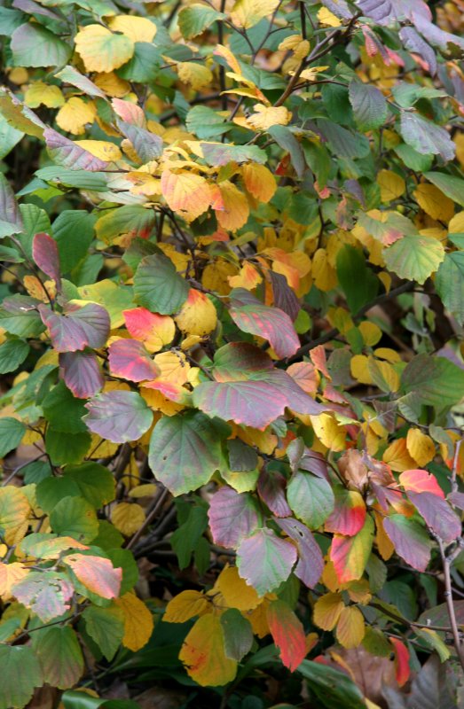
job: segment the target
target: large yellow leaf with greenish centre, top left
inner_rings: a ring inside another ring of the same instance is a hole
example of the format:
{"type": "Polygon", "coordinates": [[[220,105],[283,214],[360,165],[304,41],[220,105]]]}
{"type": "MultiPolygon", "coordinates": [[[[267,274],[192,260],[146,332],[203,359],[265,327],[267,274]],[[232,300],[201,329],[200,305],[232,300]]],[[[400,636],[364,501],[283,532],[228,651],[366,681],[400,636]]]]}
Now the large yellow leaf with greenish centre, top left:
{"type": "Polygon", "coordinates": [[[112,72],[132,57],[134,42],[102,25],[87,25],[75,35],[75,49],[88,72],[112,72]]]}

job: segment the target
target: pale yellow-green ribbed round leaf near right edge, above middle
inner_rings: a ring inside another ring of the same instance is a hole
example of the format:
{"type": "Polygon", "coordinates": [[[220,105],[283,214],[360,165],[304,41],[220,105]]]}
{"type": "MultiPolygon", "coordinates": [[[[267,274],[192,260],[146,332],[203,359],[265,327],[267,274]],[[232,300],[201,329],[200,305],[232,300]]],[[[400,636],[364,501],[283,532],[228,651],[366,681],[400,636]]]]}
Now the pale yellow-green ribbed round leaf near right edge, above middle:
{"type": "Polygon", "coordinates": [[[433,237],[405,236],[382,253],[390,271],[422,284],[444,260],[444,245],[433,237]]]}

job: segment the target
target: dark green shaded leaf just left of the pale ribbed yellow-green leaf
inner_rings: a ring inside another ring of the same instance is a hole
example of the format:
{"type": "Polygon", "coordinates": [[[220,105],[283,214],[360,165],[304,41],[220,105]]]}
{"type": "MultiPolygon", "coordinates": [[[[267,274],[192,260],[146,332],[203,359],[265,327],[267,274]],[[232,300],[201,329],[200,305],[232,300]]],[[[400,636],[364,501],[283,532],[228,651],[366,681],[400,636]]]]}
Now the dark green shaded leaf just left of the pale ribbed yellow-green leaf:
{"type": "Polygon", "coordinates": [[[346,295],[351,313],[356,314],[373,300],[379,290],[379,279],[366,265],[359,249],[345,245],[337,254],[337,276],[346,295]]]}

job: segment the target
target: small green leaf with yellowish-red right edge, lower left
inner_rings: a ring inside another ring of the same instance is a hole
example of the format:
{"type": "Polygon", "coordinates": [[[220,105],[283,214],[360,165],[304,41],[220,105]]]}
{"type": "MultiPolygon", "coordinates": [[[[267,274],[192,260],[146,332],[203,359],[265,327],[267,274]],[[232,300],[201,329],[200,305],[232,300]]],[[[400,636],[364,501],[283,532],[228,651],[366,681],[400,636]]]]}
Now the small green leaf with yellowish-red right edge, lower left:
{"type": "Polygon", "coordinates": [[[53,532],[87,544],[98,534],[95,510],[81,497],[63,497],[50,513],[53,532]]]}

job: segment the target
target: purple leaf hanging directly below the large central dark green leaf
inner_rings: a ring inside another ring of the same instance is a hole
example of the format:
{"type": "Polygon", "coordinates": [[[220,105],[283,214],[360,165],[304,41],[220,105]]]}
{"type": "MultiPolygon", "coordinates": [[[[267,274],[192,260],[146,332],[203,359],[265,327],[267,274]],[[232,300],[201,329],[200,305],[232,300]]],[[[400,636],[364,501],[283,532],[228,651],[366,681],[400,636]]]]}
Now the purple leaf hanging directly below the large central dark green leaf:
{"type": "Polygon", "coordinates": [[[208,518],[215,544],[237,549],[260,524],[261,513],[252,495],[224,485],[211,498],[208,518]]]}

